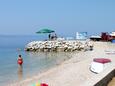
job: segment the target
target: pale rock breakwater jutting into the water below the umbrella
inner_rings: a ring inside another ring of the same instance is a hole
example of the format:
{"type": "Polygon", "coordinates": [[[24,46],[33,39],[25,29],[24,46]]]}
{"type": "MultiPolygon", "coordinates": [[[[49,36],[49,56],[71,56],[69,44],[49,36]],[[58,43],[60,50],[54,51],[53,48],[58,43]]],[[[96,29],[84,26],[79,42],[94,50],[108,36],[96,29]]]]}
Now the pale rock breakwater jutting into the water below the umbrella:
{"type": "Polygon", "coordinates": [[[26,45],[26,51],[42,51],[42,52],[72,52],[81,50],[93,50],[93,44],[85,41],[61,40],[61,41],[33,41],[26,45]]]}

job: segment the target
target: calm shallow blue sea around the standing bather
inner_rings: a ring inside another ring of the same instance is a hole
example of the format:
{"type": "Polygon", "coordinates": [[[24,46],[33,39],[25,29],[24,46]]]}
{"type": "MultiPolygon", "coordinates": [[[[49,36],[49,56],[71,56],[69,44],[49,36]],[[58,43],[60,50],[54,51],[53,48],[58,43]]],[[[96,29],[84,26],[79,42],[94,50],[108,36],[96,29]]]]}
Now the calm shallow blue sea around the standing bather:
{"type": "Polygon", "coordinates": [[[27,52],[24,50],[31,41],[46,39],[47,36],[38,35],[0,35],[0,86],[31,78],[72,58],[69,52],[27,52]],[[24,60],[21,68],[17,64],[19,54],[24,60]]]}

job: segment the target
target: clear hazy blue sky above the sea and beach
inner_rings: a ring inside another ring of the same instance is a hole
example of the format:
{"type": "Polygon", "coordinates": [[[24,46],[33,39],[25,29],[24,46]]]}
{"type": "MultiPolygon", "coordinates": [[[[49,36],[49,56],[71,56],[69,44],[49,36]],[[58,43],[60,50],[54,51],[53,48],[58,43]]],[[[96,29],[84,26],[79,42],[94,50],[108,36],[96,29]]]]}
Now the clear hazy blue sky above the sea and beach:
{"type": "Polygon", "coordinates": [[[115,0],[0,0],[0,34],[59,35],[115,31],[115,0]]]}

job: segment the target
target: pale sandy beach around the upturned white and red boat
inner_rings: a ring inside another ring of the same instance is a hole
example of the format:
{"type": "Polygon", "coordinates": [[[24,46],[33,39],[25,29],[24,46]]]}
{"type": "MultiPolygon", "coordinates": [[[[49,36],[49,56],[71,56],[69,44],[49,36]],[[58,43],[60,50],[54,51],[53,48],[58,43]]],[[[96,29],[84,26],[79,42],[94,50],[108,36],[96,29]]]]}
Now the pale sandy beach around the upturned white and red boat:
{"type": "Polygon", "coordinates": [[[93,51],[76,53],[73,58],[55,68],[9,86],[31,86],[38,81],[48,83],[49,86],[94,86],[115,68],[115,54],[105,53],[106,50],[113,49],[115,45],[111,43],[95,42],[93,51]],[[89,67],[93,58],[102,57],[109,58],[112,62],[105,65],[101,73],[92,73],[89,67]]]}

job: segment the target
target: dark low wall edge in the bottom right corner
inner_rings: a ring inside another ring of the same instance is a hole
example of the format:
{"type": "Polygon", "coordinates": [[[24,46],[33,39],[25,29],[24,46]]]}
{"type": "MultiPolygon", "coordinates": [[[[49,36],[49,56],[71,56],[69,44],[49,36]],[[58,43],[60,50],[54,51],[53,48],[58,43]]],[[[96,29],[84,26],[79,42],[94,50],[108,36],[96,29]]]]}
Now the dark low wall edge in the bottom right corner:
{"type": "Polygon", "coordinates": [[[114,76],[115,76],[115,69],[112,70],[107,76],[105,76],[101,81],[96,83],[94,86],[107,86],[114,76]]]}

